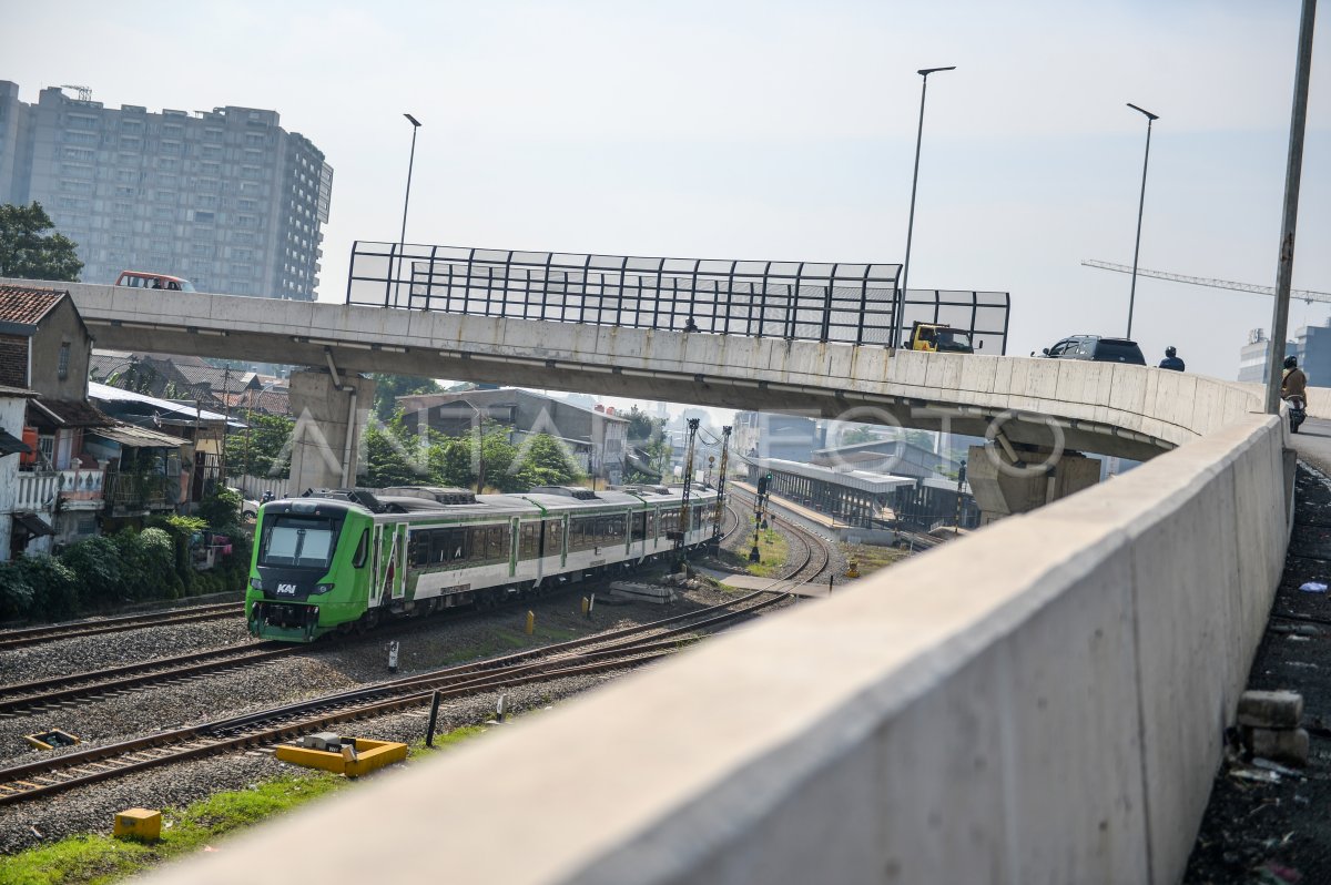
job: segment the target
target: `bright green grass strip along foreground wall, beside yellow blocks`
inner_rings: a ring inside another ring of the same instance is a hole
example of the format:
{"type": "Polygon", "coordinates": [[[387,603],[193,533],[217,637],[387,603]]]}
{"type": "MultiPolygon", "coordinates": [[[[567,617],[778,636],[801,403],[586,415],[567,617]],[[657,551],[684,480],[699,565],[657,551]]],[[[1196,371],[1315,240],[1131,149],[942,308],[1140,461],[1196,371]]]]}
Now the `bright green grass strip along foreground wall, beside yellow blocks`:
{"type": "MultiPolygon", "coordinates": [[[[409,748],[409,760],[430,757],[486,731],[463,725],[437,735],[434,747],[419,739],[409,748]]],[[[210,796],[184,810],[162,809],[162,838],[153,845],[110,836],[72,836],[52,845],[29,848],[0,858],[4,885],[109,885],[162,862],[201,850],[228,833],[246,829],[269,817],[345,789],[350,781],[327,772],[282,775],[250,789],[210,796]],[[170,824],[168,828],[166,824],[170,824]]]]}

